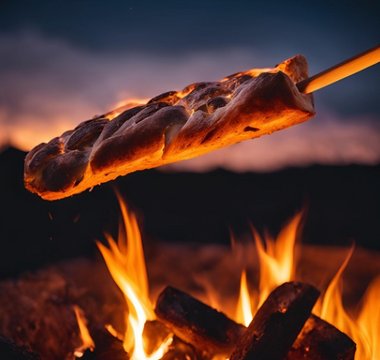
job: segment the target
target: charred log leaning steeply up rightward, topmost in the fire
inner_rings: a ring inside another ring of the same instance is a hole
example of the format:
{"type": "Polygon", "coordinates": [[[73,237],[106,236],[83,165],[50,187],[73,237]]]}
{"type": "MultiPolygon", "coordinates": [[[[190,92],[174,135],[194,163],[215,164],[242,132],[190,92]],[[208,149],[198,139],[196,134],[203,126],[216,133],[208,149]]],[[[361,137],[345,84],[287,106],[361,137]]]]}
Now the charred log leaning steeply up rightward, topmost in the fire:
{"type": "Polygon", "coordinates": [[[282,360],[317,301],[311,285],[289,282],[275,289],[257,311],[230,360],[282,360]]]}

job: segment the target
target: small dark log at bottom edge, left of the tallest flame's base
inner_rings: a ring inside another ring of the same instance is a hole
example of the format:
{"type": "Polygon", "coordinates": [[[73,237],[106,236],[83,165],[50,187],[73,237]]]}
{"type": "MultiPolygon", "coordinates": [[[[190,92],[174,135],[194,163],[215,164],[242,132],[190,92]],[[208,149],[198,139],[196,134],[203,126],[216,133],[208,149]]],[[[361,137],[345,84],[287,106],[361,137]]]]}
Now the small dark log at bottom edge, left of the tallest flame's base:
{"type": "Polygon", "coordinates": [[[87,349],[83,356],[77,360],[129,360],[129,355],[124,351],[123,343],[111,335],[102,325],[89,327],[95,349],[87,349]]]}

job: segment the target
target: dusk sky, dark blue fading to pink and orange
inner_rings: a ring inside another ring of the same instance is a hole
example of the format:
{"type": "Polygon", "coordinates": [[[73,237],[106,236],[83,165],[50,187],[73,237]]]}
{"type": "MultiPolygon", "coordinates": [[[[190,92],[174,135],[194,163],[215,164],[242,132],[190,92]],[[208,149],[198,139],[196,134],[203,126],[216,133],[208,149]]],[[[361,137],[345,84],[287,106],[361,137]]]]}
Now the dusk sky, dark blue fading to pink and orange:
{"type": "MultiPolygon", "coordinates": [[[[2,1],[0,147],[296,54],[313,75],[377,45],[379,19],[379,1],[2,1]]],[[[378,64],[316,92],[311,121],[174,168],[377,164],[379,94],[378,64]]]]}

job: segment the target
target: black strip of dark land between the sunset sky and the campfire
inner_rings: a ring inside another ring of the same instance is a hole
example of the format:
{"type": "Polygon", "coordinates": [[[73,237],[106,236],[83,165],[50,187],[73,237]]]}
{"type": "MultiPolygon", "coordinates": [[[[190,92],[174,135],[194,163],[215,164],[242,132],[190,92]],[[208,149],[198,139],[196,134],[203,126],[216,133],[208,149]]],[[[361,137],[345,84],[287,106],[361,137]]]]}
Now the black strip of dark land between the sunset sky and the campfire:
{"type": "MultiPolygon", "coordinates": [[[[114,233],[119,207],[110,184],[54,202],[23,187],[25,153],[0,153],[0,278],[49,262],[96,253],[94,239],[114,233]],[[49,216],[51,214],[51,218],[49,216]]],[[[380,166],[312,166],[236,174],[148,170],[113,182],[138,214],[146,241],[229,242],[236,234],[276,234],[306,203],[303,242],[380,250],[380,166]]]]}

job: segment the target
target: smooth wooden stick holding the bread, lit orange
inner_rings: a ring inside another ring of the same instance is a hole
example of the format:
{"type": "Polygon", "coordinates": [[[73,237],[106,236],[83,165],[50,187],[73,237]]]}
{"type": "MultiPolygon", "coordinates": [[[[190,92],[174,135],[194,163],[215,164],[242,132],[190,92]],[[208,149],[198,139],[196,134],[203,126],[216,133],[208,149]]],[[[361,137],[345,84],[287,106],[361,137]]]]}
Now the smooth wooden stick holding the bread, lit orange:
{"type": "Polygon", "coordinates": [[[301,93],[313,91],[342,80],[380,62],[380,44],[297,83],[301,93]]]}

